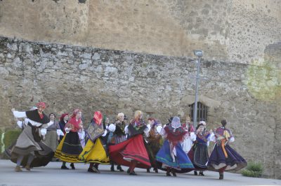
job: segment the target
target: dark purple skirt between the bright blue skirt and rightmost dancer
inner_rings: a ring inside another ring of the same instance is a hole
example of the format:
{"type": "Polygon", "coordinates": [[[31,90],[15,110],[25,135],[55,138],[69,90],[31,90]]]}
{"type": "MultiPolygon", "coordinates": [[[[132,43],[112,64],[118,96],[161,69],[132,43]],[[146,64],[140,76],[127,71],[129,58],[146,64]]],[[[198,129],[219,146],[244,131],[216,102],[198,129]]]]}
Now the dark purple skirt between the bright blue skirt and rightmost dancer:
{"type": "Polygon", "coordinates": [[[207,169],[207,162],[209,159],[207,144],[197,143],[194,148],[188,152],[196,171],[204,171],[207,169]]]}

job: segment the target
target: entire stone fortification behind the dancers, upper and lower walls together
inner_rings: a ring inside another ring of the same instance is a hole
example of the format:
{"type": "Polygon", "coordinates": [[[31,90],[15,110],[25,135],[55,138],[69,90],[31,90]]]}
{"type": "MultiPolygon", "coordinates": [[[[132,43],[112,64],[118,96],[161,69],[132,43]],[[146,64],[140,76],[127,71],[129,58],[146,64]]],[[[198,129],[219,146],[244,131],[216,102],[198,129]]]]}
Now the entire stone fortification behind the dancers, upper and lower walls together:
{"type": "Polygon", "coordinates": [[[96,109],[186,116],[202,49],[209,127],[225,117],[238,152],[280,178],[280,30],[281,1],[2,0],[0,127],[37,101],[86,122],[96,109]]]}

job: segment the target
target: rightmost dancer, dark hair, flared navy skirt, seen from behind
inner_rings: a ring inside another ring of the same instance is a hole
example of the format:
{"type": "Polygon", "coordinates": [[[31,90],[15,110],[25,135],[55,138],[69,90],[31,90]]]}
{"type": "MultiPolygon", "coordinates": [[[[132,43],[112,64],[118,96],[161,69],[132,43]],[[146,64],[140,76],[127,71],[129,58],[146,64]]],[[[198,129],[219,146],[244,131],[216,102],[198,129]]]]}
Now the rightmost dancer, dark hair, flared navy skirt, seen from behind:
{"type": "Polygon", "coordinates": [[[234,141],[234,136],[230,129],[226,128],[226,120],[221,120],[221,124],[221,127],[214,130],[216,145],[207,166],[210,171],[218,171],[219,179],[223,180],[224,171],[238,171],[247,166],[247,162],[228,145],[234,141]]]}

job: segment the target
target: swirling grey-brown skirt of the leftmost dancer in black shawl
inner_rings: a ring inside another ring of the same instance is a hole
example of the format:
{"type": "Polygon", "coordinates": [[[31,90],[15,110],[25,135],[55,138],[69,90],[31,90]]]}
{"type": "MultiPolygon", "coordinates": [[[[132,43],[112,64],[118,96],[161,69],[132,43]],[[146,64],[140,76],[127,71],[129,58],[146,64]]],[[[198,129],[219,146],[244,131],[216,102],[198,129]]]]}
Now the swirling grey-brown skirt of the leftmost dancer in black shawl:
{"type": "Polygon", "coordinates": [[[48,148],[48,146],[42,141],[35,141],[32,135],[32,127],[27,125],[23,129],[20,136],[13,145],[11,145],[8,150],[6,150],[7,155],[11,155],[11,161],[17,163],[18,156],[23,155],[21,166],[27,165],[27,159],[29,155],[34,155],[34,159],[30,166],[46,166],[48,162],[51,161],[53,157],[53,150],[48,148]]]}

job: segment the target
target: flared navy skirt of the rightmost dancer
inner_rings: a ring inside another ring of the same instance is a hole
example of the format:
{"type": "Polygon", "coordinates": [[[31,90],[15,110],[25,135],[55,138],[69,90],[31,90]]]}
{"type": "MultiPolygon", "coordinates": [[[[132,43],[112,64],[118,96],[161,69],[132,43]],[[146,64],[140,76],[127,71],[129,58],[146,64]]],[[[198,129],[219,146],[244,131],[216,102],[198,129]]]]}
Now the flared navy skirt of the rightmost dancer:
{"type": "Polygon", "coordinates": [[[239,155],[230,145],[225,146],[228,157],[223,153],[221,145],[216,144],[211,152],[208,162],[208,170],[218,171],[225,168],[225,171],[238,171],[247,166],[246,160],[239,155]]]}

